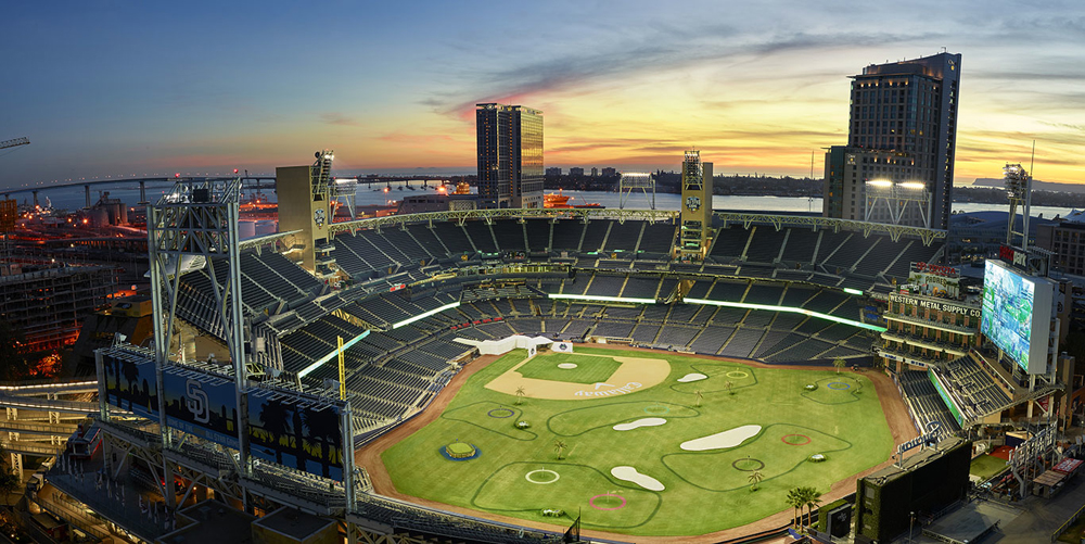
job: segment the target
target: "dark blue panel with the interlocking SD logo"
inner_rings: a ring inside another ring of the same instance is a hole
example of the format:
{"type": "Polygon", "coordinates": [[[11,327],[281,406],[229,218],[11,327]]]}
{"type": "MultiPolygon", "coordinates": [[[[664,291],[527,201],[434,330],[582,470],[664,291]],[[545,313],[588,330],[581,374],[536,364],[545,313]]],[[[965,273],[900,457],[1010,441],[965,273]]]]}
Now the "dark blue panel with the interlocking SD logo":
{"type": "Polygon", "coordinates": [[[166,425],[237,450],[238,396],[233,380],[204,371],[163,370],[166,425]]]}

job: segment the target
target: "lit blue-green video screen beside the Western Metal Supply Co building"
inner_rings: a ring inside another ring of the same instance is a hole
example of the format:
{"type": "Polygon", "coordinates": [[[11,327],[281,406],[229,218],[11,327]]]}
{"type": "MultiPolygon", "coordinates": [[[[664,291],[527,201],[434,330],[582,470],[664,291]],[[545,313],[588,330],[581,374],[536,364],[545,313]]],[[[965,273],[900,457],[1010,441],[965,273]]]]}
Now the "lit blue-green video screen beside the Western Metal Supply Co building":
{"type": "Polygon", "coordinates": [[[1029,374],[1047,367],[1051,283],[987,260],[980,331],[1029,374]]]}

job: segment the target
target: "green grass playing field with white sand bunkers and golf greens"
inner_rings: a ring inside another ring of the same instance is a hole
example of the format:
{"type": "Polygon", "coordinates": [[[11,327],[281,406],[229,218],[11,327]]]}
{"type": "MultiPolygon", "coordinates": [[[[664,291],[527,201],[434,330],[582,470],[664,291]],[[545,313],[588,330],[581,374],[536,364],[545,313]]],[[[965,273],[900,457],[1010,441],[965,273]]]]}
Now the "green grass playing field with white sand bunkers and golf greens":
{"type": "MultiPolygon", "coordinates": [[[[513,351],[472,376],[435,421],[383,453],[396,489],[525,520],[567,524],[580,511],[587,529],[679,536],[743,526],[788,509],[788,490],[814,485],[828,491],[831,483],[886,460],[893,451],[878,395],[861,375],[752,368],[662,352],[576,350],[665,359],[671,374],[663,383],[608,397],[539,400],[528,390],[516,405],[514,395],[484,387],[526,356],[513,351]],[[709,378],[676,381],[690,372],[709,378]],[[817,383],[817,390],[805,391],[807,383],[817,383]],[[644,418],[666,422],[613,429],[644,418]],[[531,427],[516,429],[519,420],[531,427]],[[751,425],[761,429],[733,447],[679,447],[751,425]],[[478,457],[446,459],[442,451],[456,440],[475,445],[478,457]],[[567,446],[560,460],[556,441],[567,446]],[[808,461],[815,453],[827,460],[808,461]],[[611,469],[620,466],[634,467],[665,489],[651,491],[615,478],[611,469]],[[764,477],[757,491],[750,490],[753,470],[764,477]],[[542,508],[560,508],[569,517],[546,518],[542,508]]],[[[600,362],[607,359],[544,353],[521,371],[590,384],[605,381],[607,376],[598,375],[618,366],[611,360],[605,370],[600,362]],[[563,362],[577,364],[577,369],[557,369],[563,362]],[[570,374],[582,368],[584,372],[570,374]]]]}

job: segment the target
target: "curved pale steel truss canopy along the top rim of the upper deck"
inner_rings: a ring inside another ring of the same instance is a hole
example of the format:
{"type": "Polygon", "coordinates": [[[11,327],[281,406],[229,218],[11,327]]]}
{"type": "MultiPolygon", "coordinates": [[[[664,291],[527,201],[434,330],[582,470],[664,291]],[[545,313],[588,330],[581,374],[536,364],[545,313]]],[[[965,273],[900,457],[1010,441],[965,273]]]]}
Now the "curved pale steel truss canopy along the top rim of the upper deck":
{"type": "MultiPolygon", "coordinates": [[[[914,236],[923,241],[924,245],[934,243],[935,240],[945,240],[946,231],[939,229],[928,229],[922,227],[911,227],[907,225],[889,225],[881,223],[866,223],[854,219],[835,219],[831,217],[820,217],[812,215],[778,215],[778,214],[756,214],[744,212],[715,212],[712,214],[714,222],[726,228],[729,224],[739,224],[745,228],[751,225],[771,225],[780,230],[783,227],[808,227],[814,230],[829,229],[833,232],[841,230],[856,230],[867,237],[871,233],[889,235],[894,242],[902,236],[914,236]]],[[[627,220],[647,222],[674,222],[680,213],[667,210],[610,210],[610,208],[562,208],[562,210],[461,210],[449,212],[431,212],[424,214],[390,215],[387,217],[372,217],[353,222],[341,222],[328,227],[330,233],[353,232],[361,229],[380,230],[382,228],[400,228],[404,225],[425,223],[431,227],[434,223],[455,223],[463,225],[468,220],[484,220],[493,224],[499,219],[580,219],[587,223],[589,219],[614,219],[618,223],[627,220]]]]}

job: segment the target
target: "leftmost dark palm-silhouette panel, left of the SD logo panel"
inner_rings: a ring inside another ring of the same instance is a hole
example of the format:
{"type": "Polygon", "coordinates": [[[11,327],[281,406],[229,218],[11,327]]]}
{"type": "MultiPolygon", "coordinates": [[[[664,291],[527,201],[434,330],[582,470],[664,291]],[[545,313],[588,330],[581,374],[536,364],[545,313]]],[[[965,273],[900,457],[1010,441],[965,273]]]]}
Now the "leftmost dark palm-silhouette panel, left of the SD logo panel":
{"type": "Polygon", "coordinates": [[[158,419],[158,388],[154,360],[136,354],[102,354],[105,396],[111,406],[148,419],[158,419]]]}

